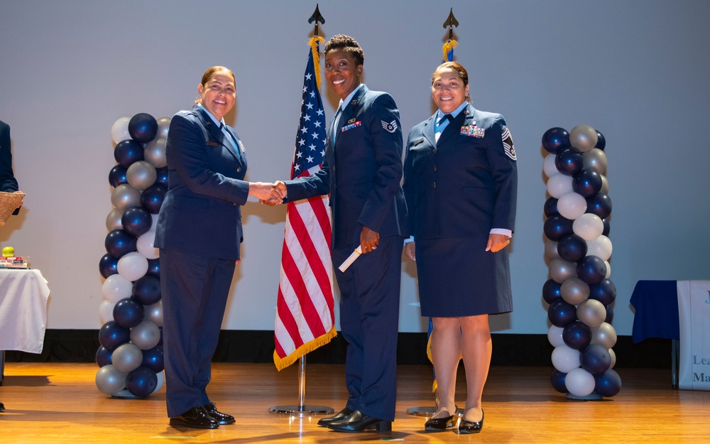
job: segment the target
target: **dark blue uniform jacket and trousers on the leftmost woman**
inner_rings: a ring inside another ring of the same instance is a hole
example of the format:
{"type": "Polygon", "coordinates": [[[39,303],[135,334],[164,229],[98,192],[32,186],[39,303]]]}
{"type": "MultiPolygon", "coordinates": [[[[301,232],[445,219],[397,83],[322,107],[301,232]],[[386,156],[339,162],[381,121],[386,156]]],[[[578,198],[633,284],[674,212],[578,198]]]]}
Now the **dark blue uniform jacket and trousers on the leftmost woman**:
{"type": "Polygon", "coordinates": [[[170,121],[168,193],[158,215],[168,416],[210,404],[212,355],[240,259],[246,151],[195,105],[170,121]]]}

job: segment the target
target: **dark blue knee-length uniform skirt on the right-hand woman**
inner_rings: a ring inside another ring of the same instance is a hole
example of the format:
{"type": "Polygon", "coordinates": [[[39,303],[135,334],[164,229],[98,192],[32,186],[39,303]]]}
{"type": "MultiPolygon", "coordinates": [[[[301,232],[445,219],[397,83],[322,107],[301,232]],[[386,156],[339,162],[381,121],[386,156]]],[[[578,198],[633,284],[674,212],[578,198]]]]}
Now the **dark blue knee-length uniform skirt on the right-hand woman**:
{"type": "Polygon", "coordinates": [[[513,310],[508,249],[486,250],[482,239],[417,240],[422,316],[452,318],[513,310]]]}

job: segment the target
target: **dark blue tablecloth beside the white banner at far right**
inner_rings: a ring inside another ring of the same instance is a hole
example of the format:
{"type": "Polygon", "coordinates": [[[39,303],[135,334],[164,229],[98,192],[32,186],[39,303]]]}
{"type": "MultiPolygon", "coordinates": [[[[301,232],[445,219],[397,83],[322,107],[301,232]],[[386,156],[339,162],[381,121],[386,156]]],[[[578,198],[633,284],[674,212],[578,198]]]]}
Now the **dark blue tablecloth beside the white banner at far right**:
{"type": "Polygon", "coordinates": [[[638,281],[630,302],[634,344],[649,337],[680,339],[677,281],[638,281]]]}

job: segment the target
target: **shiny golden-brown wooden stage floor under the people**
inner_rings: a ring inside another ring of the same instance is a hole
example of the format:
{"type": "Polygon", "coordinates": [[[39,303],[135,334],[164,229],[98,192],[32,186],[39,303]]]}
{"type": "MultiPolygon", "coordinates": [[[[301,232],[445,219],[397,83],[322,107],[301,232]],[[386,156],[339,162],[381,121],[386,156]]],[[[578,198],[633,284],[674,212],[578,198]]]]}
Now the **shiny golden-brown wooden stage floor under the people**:
{"type": "MultiPolygon", "coordinates": [[[[0,386],[0,443],[708,443],[710,392],[671,388],[668,369],[617,369],[623,388],[602,401],[573,401],[552,389],[547,367],[493,367],[484,391],[486,420],[478,435],[425,433],[408,408],[432,406],[429,366],[398,369],[391,433],[336,433],[320,416],[269,413],[297,404],[297,365],[216,363],[210,396],[237,418],[217,430],[168,426],[165,388],[146,399],[112,399],[98,391],[95,364],[6,363],[0,386]]],[[[342,365],[307,368],[307,405],[344,406],[342,365]]],[[[464,405],[463,371],[457,404],[464,405]]]]}

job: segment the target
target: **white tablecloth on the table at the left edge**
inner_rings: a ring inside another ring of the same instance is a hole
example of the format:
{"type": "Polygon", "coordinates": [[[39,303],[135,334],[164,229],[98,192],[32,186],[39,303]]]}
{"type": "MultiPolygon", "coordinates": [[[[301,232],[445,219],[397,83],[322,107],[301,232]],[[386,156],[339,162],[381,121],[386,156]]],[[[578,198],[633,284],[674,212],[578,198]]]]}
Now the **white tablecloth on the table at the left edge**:
{"type": "Polygon", "coordinates": [[[0,270],[0,350],[42,352],[48,298],[39,270],[0,270]]]}

